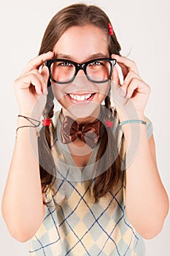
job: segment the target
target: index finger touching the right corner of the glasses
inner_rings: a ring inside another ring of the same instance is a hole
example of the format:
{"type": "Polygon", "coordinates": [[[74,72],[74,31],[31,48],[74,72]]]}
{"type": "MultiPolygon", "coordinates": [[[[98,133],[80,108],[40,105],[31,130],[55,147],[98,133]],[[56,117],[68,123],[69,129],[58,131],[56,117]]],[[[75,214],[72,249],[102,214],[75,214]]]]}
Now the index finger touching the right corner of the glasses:
{"type": "Polygon", "coordinates": [[[120,67],[122,67],[123,75],[127,75],[127,71],[134,71],[139,75],[136,63],[131,59],[116,54],[112,54],[112,58],[116,59],[117,63],[120,64],[120,67]]]}

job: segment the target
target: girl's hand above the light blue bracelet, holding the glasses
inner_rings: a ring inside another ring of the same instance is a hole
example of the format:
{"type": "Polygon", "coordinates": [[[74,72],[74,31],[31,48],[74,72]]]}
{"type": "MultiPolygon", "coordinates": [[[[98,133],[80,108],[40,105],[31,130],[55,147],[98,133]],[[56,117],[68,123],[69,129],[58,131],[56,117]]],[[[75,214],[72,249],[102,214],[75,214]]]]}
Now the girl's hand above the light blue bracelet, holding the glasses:
{"type": "Polygon", "coordinates": [[[116,59],[124,78],[121,85],[117,68],[114,67],[112,75],[113,100],[121,121],[127,118],[144,117],[144,108],[150,95],[150,86],[140,78],[134,61],[115,54],[112,54],[112,59],[116,59]]]}

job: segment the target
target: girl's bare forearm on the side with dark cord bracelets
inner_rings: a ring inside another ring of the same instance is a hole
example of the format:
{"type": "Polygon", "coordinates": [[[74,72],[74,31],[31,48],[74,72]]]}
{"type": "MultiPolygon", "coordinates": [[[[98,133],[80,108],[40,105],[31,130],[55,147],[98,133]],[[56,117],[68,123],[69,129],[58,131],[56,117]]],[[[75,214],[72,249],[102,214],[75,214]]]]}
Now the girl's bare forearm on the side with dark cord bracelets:
{"type": "MultiPolygon", "coordinates": [[[[28,121],[19,120],[18,126],[24,124],[28,125],[28,121]]],[[[18,240],[24,241],[34,236],[42,222],[42,189],[35,128],[18,129],[2,200],[2,213],[9,232],[18,240]]]]}

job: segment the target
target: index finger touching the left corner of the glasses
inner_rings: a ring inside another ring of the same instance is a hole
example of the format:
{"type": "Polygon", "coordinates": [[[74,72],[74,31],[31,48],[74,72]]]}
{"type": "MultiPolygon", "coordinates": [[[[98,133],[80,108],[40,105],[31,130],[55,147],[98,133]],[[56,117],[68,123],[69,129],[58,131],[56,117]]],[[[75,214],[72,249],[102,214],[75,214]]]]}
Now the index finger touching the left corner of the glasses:
{"type": "Polygon", "coordinates": [[[27,66],[25,67],[25,69],[23,69],[22,74],[30,72],[33,69],[39,69],[39,67],[45,62],[47,61],[47,59],[51,59],[53,58],[54,53],[49,51],[47,53],[43,53],[39,56],[37,56],[34,59],[31,59],[31,61],[28,62],[27,66]]]}

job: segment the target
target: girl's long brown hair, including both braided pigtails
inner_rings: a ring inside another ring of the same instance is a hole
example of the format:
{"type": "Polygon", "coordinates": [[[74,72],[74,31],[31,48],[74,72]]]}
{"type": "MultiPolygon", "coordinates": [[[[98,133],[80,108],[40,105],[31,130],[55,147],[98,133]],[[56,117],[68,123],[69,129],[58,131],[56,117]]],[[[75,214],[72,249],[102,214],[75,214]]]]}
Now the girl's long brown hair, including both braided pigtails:
{"type": "MultiPolygon", "coordinates": [[[[114,32],[112,36],[109,35],[108,22],[110,23],[109,18],[99,7],[87,4],[72,4],[59,11],[50,21],[42,39],[39,55],[47,53],[49,50],[53,51],[54,45],[58,42],[58,39],[60,39],[66,29],[69,29],[72,26],[85,26],[86,24],[97,26],[105,32],[110,56],[112,53],[120,55],[120,44],[117,42],[117,37],[114,32]]],[[[50,84],[50,81],[48,81],[48,83],[50,84]]],[[[50,87],[47,95],[47,104],[43,111],[43,116],[45,118],[53,117],[54,97],[50,87]]],[[[112,118],[115,113],[112,113],[109,95],[105,98],[105,107],[109,110],[105,113],[107,118],[112,118]]],[[[117,184],[121,172],[121,155],[117,154],[116,138],[112,135],[110,127],[104,127],[104,124],[102,124],[101,129],[103,129],[102,138],[100,138],[100,146],[96,156],[96,162],[98,162],[98,164],[96,164],[97,172],[93,182],[93,196],[96,200],[98,200],[99,197],[104,196],[112,186],[117,184]],[[104,154],[106,148],[107,154],[104,154]],[[112,159],[113,154],[115,154],[114,162],[110,160],[112,159]],[[101,157],[102,161],[98,161],[101,157]],[[108,166],[107,170],[106,163],[108,166]],[[106,171],[102,173],[102,170],[106,171]]],[[[53,131],[54,127],[52,124],[52,132],[53,131]]],[[[49,187],[52,186],[55,180],[55,164],[50,151],[50,136],[49,127],[42,127],[39,137],[39,167],[42,192],[45,192],[47,185],[49,187]]]]}

